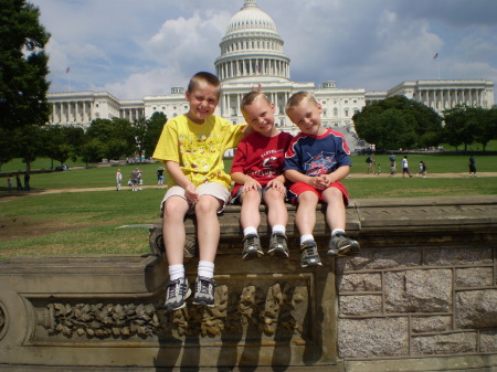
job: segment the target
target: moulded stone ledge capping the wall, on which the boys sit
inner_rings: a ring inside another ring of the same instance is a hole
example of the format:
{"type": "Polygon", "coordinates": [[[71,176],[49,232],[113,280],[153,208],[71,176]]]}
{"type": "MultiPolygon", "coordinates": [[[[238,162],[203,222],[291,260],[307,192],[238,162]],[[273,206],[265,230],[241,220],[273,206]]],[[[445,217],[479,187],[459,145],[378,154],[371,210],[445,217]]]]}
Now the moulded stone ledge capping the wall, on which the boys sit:
{"type": "MultiPolygon", "coordinates": [[[[219,216],[221,224],[220,254],[224,249],[240,251],[242,230],[240,226],[240,205],[229,205],[219,216]]],[[[296,208],[287,205],[287,236],[298,246],[298,230],[295,225],[296,208]]],[[[314,235],[318,247],[328,244],[330,230],[325,221],[326,205],[316,209],[317,221],[314,235]]],[[[405,199],[364,199],[352,200],[347,208],[347,233],[369,247],[413,245],[424,236],[425,244],[438,245],[454,243],[465,235],[464,241],[495,241],[497,231],[497,195],[405,198],[405,199]],[[402,236],[400,241],[399,237],[402,236]]],[[[260,208],[266,213],[266,206],[260,208]]],[[[186,221],[186,257],[195,255],[195,220],[186,221]]],[[[262,219],[258,228],[263,243],[268,241],[271,227],[262,219]]],[[[162,253],[162,226],[157,223],[150,228],[150,248],[152,253],[162,253]]],[[[224,252],[223,252],[224,251],[224,252]]]]}

